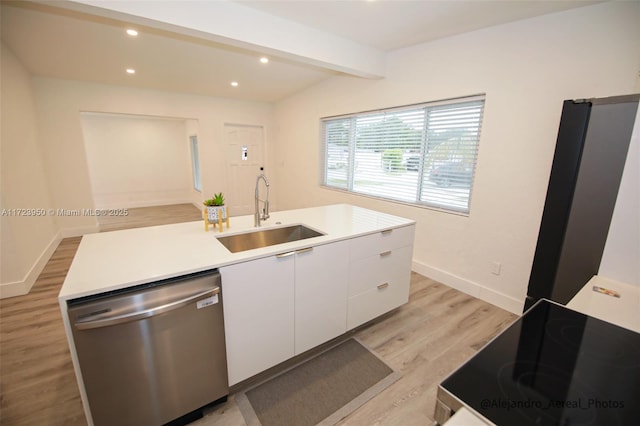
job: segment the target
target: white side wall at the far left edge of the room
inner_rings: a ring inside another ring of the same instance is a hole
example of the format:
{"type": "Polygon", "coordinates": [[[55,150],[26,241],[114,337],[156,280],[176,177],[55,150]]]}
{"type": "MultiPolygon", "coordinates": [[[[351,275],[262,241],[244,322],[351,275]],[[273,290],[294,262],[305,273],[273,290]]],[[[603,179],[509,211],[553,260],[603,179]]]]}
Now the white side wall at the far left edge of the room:
{"type": "Polygon", "coordinates": [[[4,44],[1,57],[0,298],[26,294],[59,242],[31,77],[4,44]]]}

